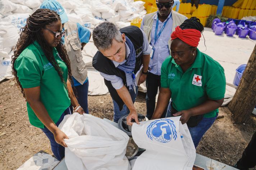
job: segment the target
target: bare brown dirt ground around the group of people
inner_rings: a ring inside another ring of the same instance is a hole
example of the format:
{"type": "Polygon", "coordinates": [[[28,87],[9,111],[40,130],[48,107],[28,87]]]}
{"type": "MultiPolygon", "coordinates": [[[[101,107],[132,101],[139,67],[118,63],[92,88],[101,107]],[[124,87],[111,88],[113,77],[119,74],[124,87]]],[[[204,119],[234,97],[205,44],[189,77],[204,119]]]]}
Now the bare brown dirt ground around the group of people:
{"type": "MultiPolygon", "coordinates": [[[[89,96],[89,112],[93,116],[113,119],[110,95],[89,96]]],[[[146,114],[145,94],[139,92],[135,102],[138,113],[146,114]]],[[[237,125],[227,107],[219,115],[199,143],[196,152],[227,165],[234,165],[256,130],[256,116],[245,125],[237,125]]],[[[242,114],[242,113],[241,113],[242,114]]],[[[0,83],[0,170],[14,170],[39,151],[52,154],[45,134],[29,124],[26,102],[14,81],[0,83]]]]}

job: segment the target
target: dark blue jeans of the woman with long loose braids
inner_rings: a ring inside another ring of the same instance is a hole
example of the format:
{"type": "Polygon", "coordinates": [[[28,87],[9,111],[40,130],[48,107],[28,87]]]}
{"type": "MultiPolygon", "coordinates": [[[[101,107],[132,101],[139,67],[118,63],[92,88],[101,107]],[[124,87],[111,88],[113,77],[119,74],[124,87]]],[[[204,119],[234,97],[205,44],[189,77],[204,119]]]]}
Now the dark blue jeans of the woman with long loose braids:
{"type": "MultiPolygon", "coordinates": [[[[71,114],[69,107],[62,113],[59,121],[56,124],[56,126],[59,126],[60,122],[63,120],[65,115],[69,115],[71,114]]],[[[55,139],[54,139],[54,135],[51,131],[49,131],[47,129],[47,127],[45,128],[40,128],[45,135],[48,137],[48,139],[50,140],[51,143],[51,151],[54,154],[54,156],[60,161],[64,156],[65,156],[65,147],[61,146],[60,144],[58,144],[55,139]]]]}

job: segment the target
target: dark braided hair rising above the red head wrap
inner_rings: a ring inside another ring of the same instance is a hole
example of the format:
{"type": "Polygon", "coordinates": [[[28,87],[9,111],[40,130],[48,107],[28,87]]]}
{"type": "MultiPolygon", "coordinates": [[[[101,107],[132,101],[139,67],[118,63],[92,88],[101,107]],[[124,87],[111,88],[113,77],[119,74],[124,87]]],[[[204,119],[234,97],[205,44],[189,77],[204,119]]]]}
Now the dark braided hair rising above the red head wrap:
{"type": "MultiPolygon", "coordinates": [[[[200,23],[200,19],[199,18],[196,18],[196,17],[191,17],[190,19],[186,19],[180,26],[179,26],[180,29],[196,29],[198,31],[201,32],[201,34],[203,35],[204,37],[204,26],[200,23]]],[[[204,40],[205,40],[205,37],[204,37],[204,40]]],[[[205,43],[205,42],[204,42],[205,43]]],[[[193,48],[193,47],[191,47],[193,48]]],[[[205,45],[205,48],[206,48],[206,45],[205,45]]],[[[206,48],[207,49],[207,48],[206,48]]],[[[206,51],[206,50],[205,50],[206,51]]],[[[205,52],[204,51],[204,52],[205,52]]]]}

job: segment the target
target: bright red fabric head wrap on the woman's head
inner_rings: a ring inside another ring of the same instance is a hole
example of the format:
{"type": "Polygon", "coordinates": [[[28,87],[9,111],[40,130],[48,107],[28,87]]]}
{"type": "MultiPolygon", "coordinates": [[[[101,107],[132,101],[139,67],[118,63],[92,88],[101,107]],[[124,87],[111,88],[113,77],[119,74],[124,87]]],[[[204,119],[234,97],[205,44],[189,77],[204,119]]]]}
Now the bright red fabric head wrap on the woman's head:
{"type": "Polygon", "coordinates": [[[192,46],[197,47],[198,43],[201,38],[201,32],[196,29],[180,29],[179,26],[175,28],[175,31],[173,31],[171,35],[172,40],[179,38],[184,43],[192,46]]]}

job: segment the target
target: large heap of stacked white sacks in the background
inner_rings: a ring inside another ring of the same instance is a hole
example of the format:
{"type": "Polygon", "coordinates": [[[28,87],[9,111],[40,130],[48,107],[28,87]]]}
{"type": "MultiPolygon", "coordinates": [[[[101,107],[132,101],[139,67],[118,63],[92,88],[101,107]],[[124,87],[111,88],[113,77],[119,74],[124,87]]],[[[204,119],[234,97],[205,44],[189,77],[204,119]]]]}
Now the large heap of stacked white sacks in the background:
{"type": "MultiPolygon", "coordinates": [[[[12,76],[10,58],[26,19],[44,0],[0,0],[0,81],[12,76]],[[4,62],[4,63],[3,63],[4,62]],[[2,63],[2,64],[1,64],[2,63]]],[[[133,18],[146,14],[143,1],[133,0],[58,0],[69,21],[95,28],[109,21],[119,28],[130,25],[133,18]]],[[[92,56],[90,56],[92,57],[92,56]]],[[[104,92],[106,93],[106,92],[104,92]]],[[[98,95],[101,93],[97,93],[98,95]]]]}

